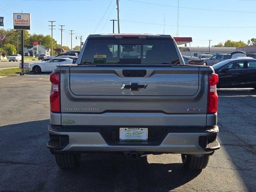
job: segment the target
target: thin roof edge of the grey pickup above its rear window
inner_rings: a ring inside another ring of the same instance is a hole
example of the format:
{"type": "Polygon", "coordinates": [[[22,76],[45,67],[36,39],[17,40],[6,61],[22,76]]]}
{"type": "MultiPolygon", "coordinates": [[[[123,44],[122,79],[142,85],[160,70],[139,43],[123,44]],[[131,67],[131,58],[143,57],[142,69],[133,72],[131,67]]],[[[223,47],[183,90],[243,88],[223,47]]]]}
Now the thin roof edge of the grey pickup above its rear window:
{"type": "MultiPolygon", "coordinates": [[[[91,37],[113,37],[113,36],[148,36],[148,37],[159,37],[159,38],[172,38],[171,35],[163,35],[163,34],[128,34],[128,33],[110,33],[110,34],[90,34],[88,38],[91,37]]],[[[172,38],[173,39],[173,38],[172,38]]]]}

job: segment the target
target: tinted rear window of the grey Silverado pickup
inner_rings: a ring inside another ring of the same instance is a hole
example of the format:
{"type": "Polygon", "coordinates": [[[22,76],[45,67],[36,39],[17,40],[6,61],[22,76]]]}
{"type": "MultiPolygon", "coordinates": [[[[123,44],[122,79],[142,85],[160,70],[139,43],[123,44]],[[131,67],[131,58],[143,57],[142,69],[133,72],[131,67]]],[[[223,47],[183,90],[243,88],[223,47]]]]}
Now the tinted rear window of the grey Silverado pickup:
{"type": "Polygon", "coordinates": [[[89,39],[80,64],[180,64],[170,40],[89,39]]]}

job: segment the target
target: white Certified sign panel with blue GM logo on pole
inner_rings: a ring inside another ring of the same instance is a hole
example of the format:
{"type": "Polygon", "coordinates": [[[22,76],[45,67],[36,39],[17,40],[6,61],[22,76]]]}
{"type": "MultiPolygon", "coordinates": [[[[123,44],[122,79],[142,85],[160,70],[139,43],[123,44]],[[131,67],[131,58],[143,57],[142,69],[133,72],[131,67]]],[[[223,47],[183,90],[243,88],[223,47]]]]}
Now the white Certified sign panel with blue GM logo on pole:
{"type": "Polygon", "coordinates": [[[30,13],[14,13],[13,28],[16,30],[30,30],[31,28],[30,13]]]}

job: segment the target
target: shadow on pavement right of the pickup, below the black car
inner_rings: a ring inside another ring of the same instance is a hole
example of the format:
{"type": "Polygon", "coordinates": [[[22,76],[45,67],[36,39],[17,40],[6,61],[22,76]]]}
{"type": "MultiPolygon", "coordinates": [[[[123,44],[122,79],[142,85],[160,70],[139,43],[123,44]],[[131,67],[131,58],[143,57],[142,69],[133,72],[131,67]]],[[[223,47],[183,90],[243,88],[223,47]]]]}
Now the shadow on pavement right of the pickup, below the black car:
{"type": "MultiPolygon", "coordinates": [[[[248,191],[255,190],[256,178],[256,90],[218,89],[218,126],[221,148],[248,191]]],[[[227,166],[224,166],[227,167],[227,166]]],[[[230,167],[230,166],[229,166],[230,167]]]]}

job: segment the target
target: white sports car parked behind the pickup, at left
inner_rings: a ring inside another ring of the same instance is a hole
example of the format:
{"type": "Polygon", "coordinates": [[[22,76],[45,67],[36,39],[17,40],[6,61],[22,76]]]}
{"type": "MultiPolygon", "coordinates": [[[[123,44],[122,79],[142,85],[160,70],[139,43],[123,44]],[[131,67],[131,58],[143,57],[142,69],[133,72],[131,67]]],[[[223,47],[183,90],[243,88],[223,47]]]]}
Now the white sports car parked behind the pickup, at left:
{"type": "Polygon", "coordinates": [[[40,72],[52,72],[56,65],[61,64],[72,64],[73,60],[70,58],[52,58],[46,62],[37,62],[33,63],[29,66],[30,71],[34,73],[40,72]]]}

